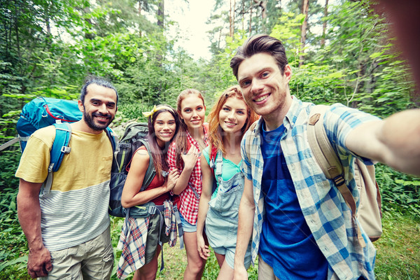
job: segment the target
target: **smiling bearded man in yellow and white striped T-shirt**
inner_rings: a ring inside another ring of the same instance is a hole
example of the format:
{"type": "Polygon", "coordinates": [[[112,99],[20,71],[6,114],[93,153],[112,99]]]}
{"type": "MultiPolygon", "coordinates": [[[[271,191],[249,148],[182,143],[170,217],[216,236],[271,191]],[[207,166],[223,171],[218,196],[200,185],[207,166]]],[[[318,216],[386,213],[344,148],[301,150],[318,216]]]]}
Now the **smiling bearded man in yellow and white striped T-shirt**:
{"type": "Polygon", "coordinates": [[[32,134],[16,176],[18,217],[29,247],[28,273],[39,279],[110,279],[113,248],[109,228],[109,181],[113,148],[104,131],[117,111],[117,90],[89,77],[71,124],[71,153],[40,195],[48,174],[55,127],[32,134]]]}

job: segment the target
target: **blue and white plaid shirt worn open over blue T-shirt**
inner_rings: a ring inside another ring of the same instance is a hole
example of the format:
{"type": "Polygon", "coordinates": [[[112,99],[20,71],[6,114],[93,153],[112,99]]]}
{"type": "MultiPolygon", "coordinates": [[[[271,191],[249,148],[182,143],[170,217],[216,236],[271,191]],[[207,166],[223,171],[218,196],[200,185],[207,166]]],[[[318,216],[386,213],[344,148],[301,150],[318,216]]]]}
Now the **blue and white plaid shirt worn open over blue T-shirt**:
{"type": "MultiPolygon", "coordinates": [[[[362,248],[357,230],[351,222],[351,211],[334,184],[325,178],[318,166],[307,140],[307,121],[314,104],[302,103],[293,97],[292,105],[283,120],[286,128],[281,148],[295,185],[297,199],[303,216],[328,261],[328,279],[374,279],[376,251],[369,237],[363,232],[366,246],[362,248]]],[[[346,137],[356,126],[378,118],[350,109],[342,104],[330,106],[324,116],[328,139],[336,149],[344,168],[347,186],[351,189],[358,206],[359,193],[353,179],[354,155],[345,146],[346,137]]],[[[252,236],[252,261],[258,255],[258,246],[265,219],[264,197],[261,179],[264,161],[261,154],[262,119],[253,130],[248,130],[241,143],[244,159],[242,172],[253,183],[255,214],[252,236]],[[248,153],[247,148],[248,146],[248,153]]]]}

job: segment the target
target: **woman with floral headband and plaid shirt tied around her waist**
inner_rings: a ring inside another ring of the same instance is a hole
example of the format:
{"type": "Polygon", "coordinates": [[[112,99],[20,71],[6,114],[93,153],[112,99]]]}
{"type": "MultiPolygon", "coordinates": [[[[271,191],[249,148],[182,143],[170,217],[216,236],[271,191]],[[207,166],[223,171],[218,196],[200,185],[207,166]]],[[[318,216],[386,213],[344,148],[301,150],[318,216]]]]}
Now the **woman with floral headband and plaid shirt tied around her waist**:
{"type": "Polygon", "coordinates": [[[117,247],[123,251],[117,269],[119,279],[125,279],[133,271],[133,279],[155,279],[162,249],[160,244],[169,242],[169,246],[174,246],[176,242],[169,191],[174,188],[179,172],[169,172],[167,150],[179,130],[178,113],[171,106],[161,105],[143,114],[148,117],[150,153],[145,146],[134,152],[121,204],[128,209],[153,202],[158,211],[146,218],[129,217],[128,223],[124,223],[117,247]],[[150,160],[153,160],[156,174],[150,185],[140,191],[150,160]]]}

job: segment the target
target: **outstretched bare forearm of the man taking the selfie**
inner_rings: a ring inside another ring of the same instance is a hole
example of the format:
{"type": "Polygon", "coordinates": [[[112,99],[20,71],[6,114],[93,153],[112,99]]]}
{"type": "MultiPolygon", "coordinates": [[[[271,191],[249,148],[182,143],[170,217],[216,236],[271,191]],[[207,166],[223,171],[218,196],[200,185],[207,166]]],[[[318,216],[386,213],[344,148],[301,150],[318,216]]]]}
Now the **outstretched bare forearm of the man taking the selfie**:
{"type": "Polygon", "coordinates": [[[420,176],[420,109],[359,125],[349,133],[346,146],[357,155],[420,176]]]}

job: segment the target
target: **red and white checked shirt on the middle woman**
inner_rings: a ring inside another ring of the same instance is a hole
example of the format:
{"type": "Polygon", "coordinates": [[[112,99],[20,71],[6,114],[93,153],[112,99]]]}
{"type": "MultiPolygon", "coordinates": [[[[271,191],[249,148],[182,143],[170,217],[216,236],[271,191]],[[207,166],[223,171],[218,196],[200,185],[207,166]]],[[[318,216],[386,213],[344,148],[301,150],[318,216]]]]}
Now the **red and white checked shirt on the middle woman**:
{"type": "MultiPolygon", "coordinates": [[[[200,146],[198,146],[198,142],[187,132],[187,139],[188,139],[188,146],[194,145],[200,151],[200,146]]],[[[209,137],[207,135],[207,130],[204,129],[204,143],[206,146],[209,146],[209,137]]],[[[169,170],[172,171],[173,169],[178,169],[176,167],[176,144],[172,142],[171,146],[168,149],[167,155],[169,170]]],[[[180,174],[182,169],[178,169],[180,174]]],[[[199,197],[202,193],[202,174],[201,174],[201,166],[200,166],[200,158],[198,158],[197,162],[195,163],[195,167],[193,172],[191,173],[190,180],[188,181],[188,185],[182,193],[179,194],[179,199],[181,200],[181,206],[179,207],[179,212],[183,216],[186,221],[192,225],[197,223],[197,216],[198,216],[198,203],[200,202],[200,198],[197,199],[195,193],[191,189],[197,192],[199,197]]]]}

